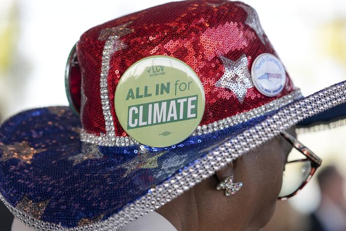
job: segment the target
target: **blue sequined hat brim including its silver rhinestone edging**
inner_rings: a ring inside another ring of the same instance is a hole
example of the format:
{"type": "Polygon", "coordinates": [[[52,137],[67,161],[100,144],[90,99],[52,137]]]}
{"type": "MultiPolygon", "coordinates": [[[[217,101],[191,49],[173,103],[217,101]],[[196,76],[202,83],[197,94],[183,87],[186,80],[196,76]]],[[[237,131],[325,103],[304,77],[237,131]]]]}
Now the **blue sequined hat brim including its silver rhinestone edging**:
{"type": "Polygon", "coordinates": [[[281,130],[311,125],[326,111],[341,121],[345,109],[346,81],[169,148],[81,142],[80,119],[68,107],[21,112],[0,127],[0,198],[38,230],[116,230],[281,130]]]}

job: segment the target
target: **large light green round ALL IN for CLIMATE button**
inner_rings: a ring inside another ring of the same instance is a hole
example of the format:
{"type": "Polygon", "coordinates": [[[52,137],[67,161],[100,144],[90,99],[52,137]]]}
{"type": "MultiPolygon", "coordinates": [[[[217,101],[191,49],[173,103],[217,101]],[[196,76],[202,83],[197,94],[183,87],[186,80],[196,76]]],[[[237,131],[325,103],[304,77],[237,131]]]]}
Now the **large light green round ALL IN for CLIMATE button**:
{"type": "Polygon", "coordinates": [[[199,77],[186,63],[155,55],[126,70],[114,103],[128,135],[144,145],[167,147],[185,140],[197,128],[205,94],[199,77]]]}

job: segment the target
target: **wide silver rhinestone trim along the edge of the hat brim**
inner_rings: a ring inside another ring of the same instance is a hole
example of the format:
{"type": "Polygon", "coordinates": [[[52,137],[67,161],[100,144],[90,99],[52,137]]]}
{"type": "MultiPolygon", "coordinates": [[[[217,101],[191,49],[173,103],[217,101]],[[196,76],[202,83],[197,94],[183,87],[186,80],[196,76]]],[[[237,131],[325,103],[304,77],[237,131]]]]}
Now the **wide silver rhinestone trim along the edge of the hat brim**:
{"type": "Polygon", "coordinates": [[[277,136],[303,119],[321,113],[346,102],[346,81],[325,88],[311,96],[295,101],[279,109],[263,122],[246,129],[228,142],[211,150],[205,157],[186,169],[178,172],[169,180],[155,186],[138,200],[126,205],[120,212],[104,221],[75,228],[63,228],[33,218],[26,212],[10,205],[2,195],[0,199],[8,209],[26,225],[37,230],[101,231],[117,230],[138,217],[153,211],[171,201],[181,193],[191,189],[203,179],[208,178],[227,162],[254,149],[277,136]]]}

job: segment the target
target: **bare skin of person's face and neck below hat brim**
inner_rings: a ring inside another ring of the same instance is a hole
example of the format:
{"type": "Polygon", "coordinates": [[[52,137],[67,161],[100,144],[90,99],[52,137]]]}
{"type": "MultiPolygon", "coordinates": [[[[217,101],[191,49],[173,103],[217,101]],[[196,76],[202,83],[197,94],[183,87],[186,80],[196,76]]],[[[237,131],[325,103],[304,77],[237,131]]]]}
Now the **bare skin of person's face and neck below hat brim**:
{"type": "MultiPolygon", "coordinates": [[[[294,128],[288,130],[296,135],[294,128]]],[[[227,164],[159,208],[178,231],[258,231],[272,217],[292,146],[280,135],[227,164]],[[216,186],[230,175],[242,189],[230,197],[216,186]]]]}

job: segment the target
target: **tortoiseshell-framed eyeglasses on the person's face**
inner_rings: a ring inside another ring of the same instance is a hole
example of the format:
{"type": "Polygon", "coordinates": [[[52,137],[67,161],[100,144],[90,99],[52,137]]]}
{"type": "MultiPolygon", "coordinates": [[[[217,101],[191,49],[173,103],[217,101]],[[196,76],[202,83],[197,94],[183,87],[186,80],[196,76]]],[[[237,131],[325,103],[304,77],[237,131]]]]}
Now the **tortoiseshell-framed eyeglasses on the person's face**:
{"type": "Polygon", "coordinates": [[[293,146],[294,149],[292,150],[297,150],[299,152],[298,154],[290,152],[287,156],[287,162],[283,171],[281,191],[278,195],[278,199],[286,200],[304,188],[316,172],[316,169],[321,166],[322,159],[288,132],[281,131],[280,134],[293,146]]]}

